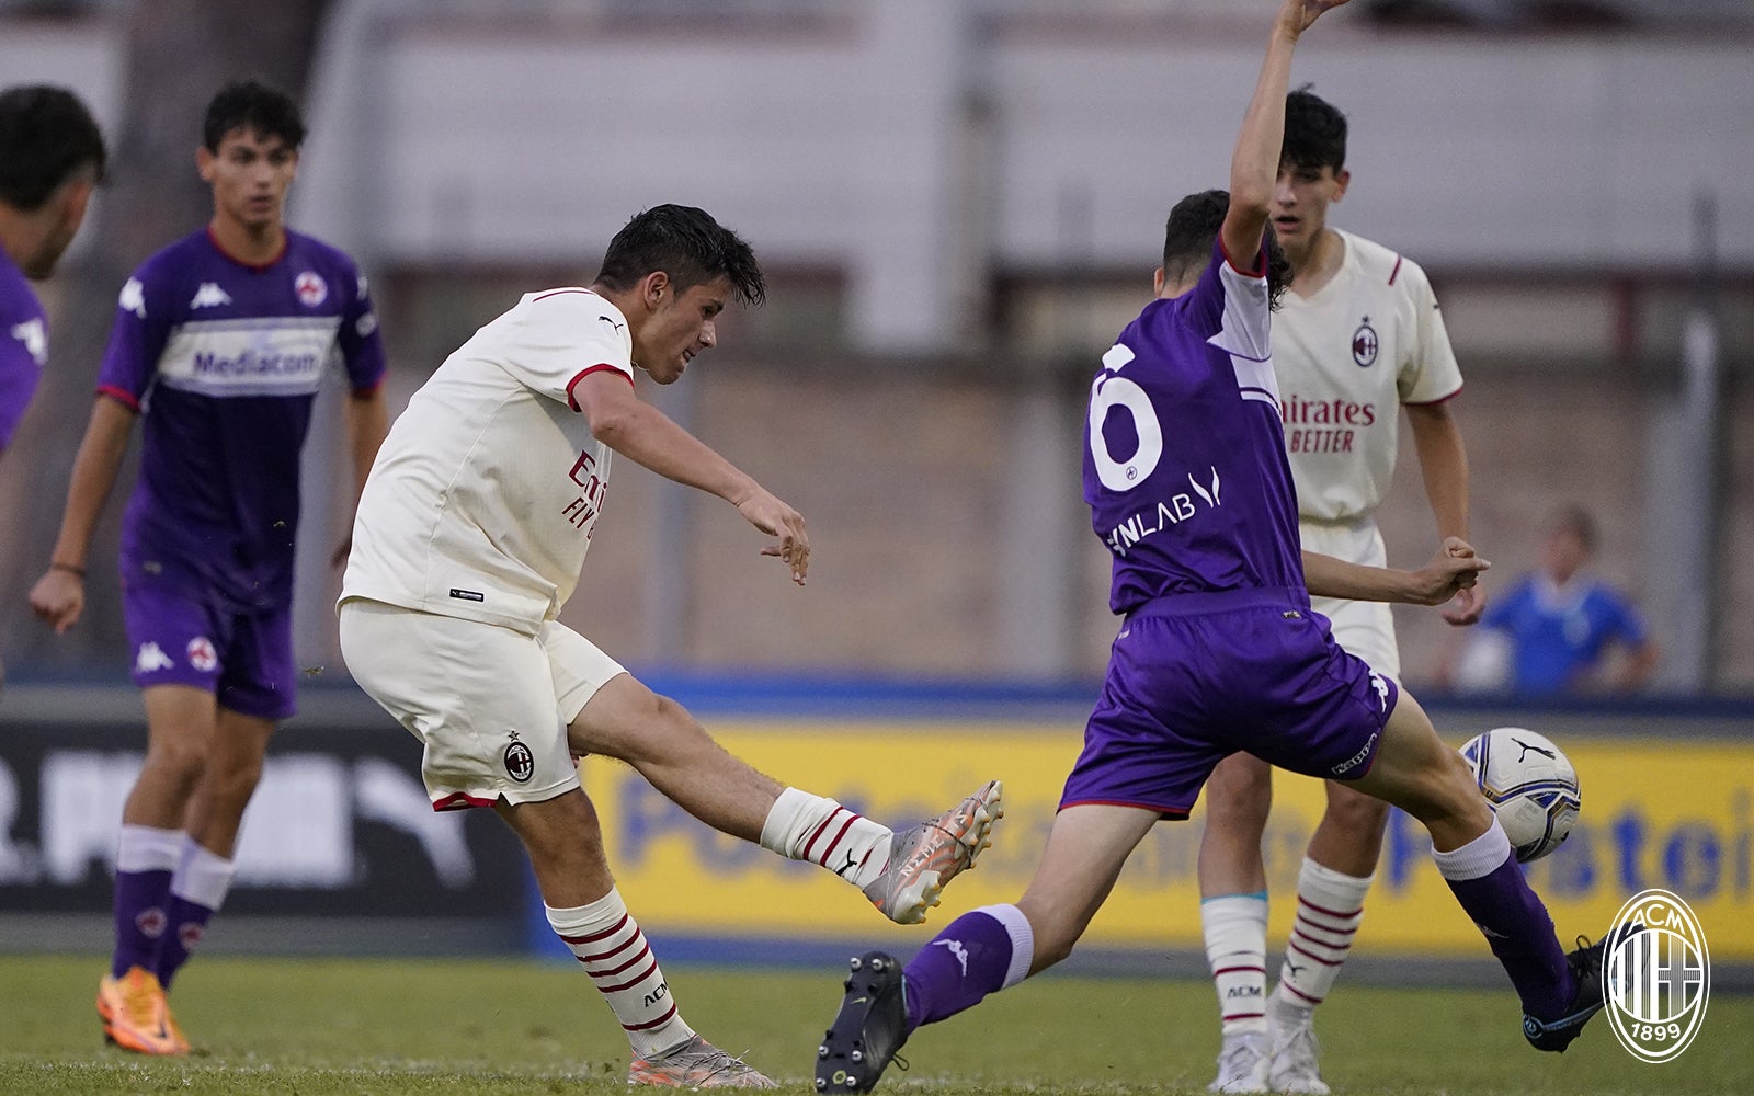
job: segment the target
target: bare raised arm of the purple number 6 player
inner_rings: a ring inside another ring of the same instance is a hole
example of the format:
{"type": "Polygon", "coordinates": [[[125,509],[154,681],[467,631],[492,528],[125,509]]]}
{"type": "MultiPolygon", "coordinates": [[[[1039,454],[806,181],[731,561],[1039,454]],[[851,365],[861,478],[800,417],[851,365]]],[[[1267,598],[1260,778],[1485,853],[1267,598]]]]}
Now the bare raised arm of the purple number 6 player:
{"type": "Polygon", "coordinates": [[[1324,11],[1345,0],[1284,0],[1266,40],[1266,60],[1254,84],[1254,98],[1242,117],[1237,149],[1230,158],[1230,210],[1219,237],[1224,254],[1238,267],[1254,268],[1261,233],[1279,179],[1279,151],[1286,142],[1286,91],[1291,86],[1291,51],[1324,11]]]}

